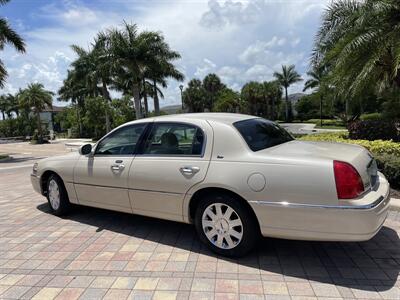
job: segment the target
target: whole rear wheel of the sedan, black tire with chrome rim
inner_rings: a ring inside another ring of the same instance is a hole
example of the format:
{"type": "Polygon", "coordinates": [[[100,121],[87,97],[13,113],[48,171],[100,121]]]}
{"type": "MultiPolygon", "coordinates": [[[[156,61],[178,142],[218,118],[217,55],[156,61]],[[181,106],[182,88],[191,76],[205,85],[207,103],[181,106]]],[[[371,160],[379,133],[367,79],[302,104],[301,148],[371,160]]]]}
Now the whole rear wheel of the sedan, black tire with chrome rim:
{"type": "Polygon", "coordinates": [[[246,255],[260,236],[249,208],[228,194],[210,194],[200,200],[194,221],[200,240],[223,256],[246,255]]]}

